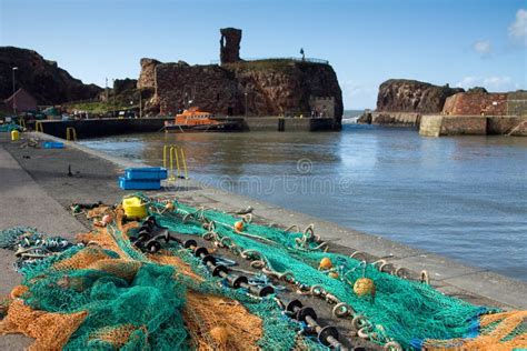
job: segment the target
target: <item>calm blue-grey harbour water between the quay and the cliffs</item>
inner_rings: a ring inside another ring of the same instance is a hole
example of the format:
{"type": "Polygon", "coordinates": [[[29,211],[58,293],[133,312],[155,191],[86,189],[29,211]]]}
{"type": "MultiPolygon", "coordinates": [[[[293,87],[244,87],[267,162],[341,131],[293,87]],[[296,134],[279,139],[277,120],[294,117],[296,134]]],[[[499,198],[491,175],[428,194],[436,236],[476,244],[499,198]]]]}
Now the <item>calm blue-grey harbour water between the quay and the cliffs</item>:
{"type": "Polygon", "coordinates": [[[527,280],[527,138],[345,126],[82,141],[156,166],[172,142],[185,147],[192,178],[527,280]]]}

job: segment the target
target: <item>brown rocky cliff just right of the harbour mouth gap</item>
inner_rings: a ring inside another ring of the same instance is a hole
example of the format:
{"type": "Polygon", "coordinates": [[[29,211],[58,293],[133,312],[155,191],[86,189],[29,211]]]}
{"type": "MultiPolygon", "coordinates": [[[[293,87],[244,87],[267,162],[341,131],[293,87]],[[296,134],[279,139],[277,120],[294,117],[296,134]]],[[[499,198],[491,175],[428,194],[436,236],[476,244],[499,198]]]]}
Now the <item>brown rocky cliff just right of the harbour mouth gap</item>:
{"type": "Polygon", "coordinates": [[[448,97],[463,91],[448,84],[438,87],[417,80],[390,79],[379,87],[377,111],[438,113],[448,97]]]}

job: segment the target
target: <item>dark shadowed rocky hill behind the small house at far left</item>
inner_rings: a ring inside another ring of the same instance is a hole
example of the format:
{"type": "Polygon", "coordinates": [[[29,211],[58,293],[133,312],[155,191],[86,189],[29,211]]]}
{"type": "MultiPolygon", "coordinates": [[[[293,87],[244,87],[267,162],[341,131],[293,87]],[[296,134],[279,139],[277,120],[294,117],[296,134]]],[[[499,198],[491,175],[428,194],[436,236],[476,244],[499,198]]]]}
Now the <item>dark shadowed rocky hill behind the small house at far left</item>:
{"type": "Polygon", "coordinates": [[[57,62],[43,59],[32,50],[0,47],[0,99],[12,93],[12,68],[17,89],[29,91],[39,104],[58,104],[67,101],[93,99],[102,90],[95,84],[83,84],[71,77],[57,62]]]}

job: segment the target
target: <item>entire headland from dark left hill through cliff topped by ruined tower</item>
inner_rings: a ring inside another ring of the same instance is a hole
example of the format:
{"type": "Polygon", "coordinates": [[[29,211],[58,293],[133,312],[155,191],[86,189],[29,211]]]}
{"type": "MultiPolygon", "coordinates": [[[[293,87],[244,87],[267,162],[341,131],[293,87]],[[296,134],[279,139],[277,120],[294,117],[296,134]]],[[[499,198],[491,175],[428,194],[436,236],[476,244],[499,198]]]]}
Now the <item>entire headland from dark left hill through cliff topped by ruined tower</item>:
{"type": "Polygon", "coordinates": [[[274,58],[243,60],[241,30],[220,30],[220,62],[190,66],[141,59],[139,79],[115,80],[112,89],[82,84],[56,62],[34,51],[0,48],[0,97],[12,94],[11,68],[17,84],[38,104],[106,113],[139,108],[147,116],[173,114],[190,106],[223,116],[327,117],[340,127],[342,92],[331,66],[319,59],[274,58]]]}

